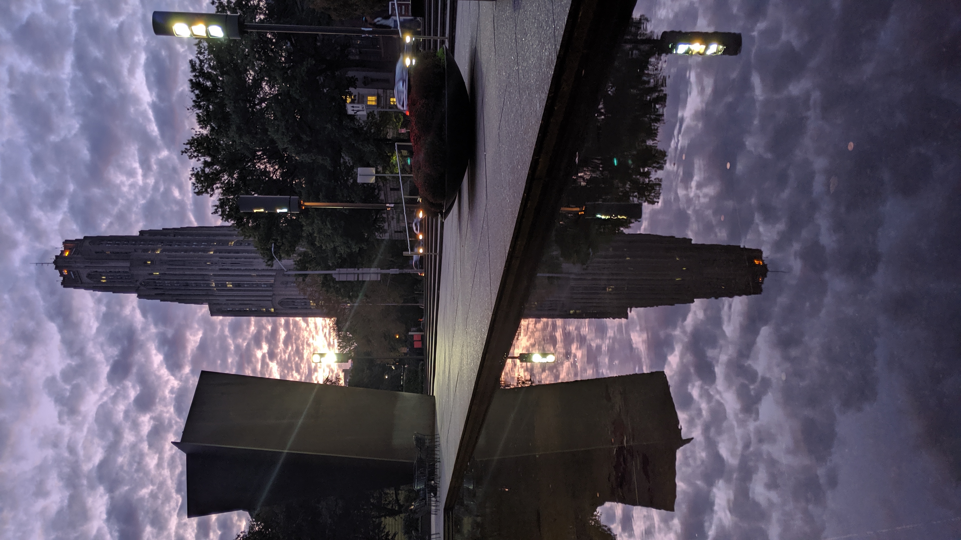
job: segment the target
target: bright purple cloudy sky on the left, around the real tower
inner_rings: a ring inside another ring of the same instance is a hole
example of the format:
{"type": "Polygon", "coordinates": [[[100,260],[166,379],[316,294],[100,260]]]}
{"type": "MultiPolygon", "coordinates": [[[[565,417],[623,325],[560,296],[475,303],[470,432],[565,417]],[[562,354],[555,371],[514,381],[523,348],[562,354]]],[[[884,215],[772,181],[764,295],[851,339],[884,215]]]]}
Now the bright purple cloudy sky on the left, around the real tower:
{"type": "Polygon", "coordinates": [[[64,238],[215,225],[180,149],[187,40],[149,13],[185,0],[0,2],[0,537],[234,538],[187,520],[179,440],[200,370],[318,380],[319,320],[64,290],[64,238]]]}

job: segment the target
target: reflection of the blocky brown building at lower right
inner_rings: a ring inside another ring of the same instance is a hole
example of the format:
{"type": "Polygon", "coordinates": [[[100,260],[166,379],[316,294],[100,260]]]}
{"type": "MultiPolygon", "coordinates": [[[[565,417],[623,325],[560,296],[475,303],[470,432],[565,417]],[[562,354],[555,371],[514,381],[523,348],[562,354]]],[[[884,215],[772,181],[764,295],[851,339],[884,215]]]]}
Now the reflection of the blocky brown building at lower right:
{"type": "Polygon", "coordinates": [[[480,517],[469,528],[591,538],[604,503],[674,510],[675,454],[690,440],[663,372],[498,390],[465,482],[480,517]]]}

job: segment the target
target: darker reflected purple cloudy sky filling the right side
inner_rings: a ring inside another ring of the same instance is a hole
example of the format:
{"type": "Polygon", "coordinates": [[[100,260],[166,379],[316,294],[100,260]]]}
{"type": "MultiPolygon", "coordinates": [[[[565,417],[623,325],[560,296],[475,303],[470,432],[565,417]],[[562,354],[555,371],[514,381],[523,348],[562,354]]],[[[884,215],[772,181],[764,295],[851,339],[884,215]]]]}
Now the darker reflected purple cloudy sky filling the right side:
{"type": "Polygon", "coordinates": [[[783,273],[761,296],[522,331],[579,357],[535,380],[671,382],[694,437],[677,512],[610,504],[604,522],[620,538],[961,537],[961,7],[638,12],[658,33],[744,36],[736,58],[667,60],[669,166],[643,232],[760,248],[783,273]]]}

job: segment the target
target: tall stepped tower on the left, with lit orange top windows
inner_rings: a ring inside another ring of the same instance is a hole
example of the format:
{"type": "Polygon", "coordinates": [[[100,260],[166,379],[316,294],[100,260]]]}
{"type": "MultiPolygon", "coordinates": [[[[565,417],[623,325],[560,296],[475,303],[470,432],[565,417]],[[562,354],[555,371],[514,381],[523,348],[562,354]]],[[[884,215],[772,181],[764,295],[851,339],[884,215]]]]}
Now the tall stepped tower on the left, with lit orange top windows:
{"type": "MultiPolygon", "coordinates": [[[[287,261],[289,262],[289,261],[287,261]]],[[[292,262],[285,263],[292,267],[292,262]]],[[[54,259],[64,287],[207,305],[211,315],[325,317],[294,276],[268,267],[233,227],[181,227],[65,240],[54,259]]]]}

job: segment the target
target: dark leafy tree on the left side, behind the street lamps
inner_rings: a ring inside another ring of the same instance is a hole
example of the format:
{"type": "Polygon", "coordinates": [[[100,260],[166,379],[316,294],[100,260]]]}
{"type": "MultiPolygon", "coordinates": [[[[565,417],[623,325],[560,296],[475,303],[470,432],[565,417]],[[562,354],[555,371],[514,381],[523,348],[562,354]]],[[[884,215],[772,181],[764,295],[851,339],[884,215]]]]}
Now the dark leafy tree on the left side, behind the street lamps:
{"type": "MultiPolygon", "coordinates": [[[[215,0],[217,12],[247,21],[325,25],[331,15],[298,0],[215,0]]],[[[363,266],[382,226],[376,210],[313,209],[243,214],[245,194],[308,201],[372,202],[373,186],[353,182],[357,166],[386,163],[376,134],[344,107],[351,81],[349,37],[249,33],[197,41],[190,89],[197,129],[185,154],[194,191],[218,197],[214,212],[253,237],[265,260],[296,256],[300,267],[363,266]]],[[[376,253],[376,249],[374,252],[376,253]]]]}

